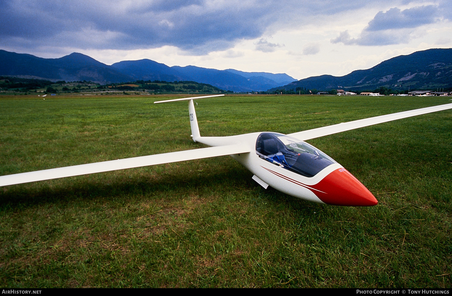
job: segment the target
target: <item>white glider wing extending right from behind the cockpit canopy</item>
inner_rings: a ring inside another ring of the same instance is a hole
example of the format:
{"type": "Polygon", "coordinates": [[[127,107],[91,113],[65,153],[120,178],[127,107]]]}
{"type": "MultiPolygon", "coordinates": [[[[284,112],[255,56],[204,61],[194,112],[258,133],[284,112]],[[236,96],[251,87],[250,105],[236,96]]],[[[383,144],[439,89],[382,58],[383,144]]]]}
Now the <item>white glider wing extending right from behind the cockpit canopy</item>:
{"type": "Polygon", "coordinates": [[[411,117],[411,116],[416,116],[416,115],[421,115],[421,114],[426,114],[426,113],[432,113],[432,112],[437,112],[437,111],[442,111],[442,110],[447,110],[447,109],[452,109],[452,104],[444,104],[444,105],[414,109],[414,110],[409,110],[409,111],[404,111],[404,112],[399,112],[399,113],[386,114],[386,115],[381,115],[381,116],[377,116],[377,117],[364,118],[364,119],[359,119],[359,120],[350,121],[350,122],[342,122],[339,124],[334,124],[334,125],[330,125],[330,126],[326,126],[326,127],[313,128],[311,130],[306,130],[303,132],[294,132],[292,134],[288,134],[287,136],[293,136],[294,138],[300,139],[302,141],[306,141],[306,140],[318,138],[321,136],[332,135],[332,134],[335,134],[338,132],[345,132],[345,131],[353,130],[355,128],[367,127],[367,126],[370,126],[373,124],[388,122],[388,121],[392,121],[392,120],[397,120],[397,119],[402,119],[402,118],[406,118],[406,117],[411,117]]]}

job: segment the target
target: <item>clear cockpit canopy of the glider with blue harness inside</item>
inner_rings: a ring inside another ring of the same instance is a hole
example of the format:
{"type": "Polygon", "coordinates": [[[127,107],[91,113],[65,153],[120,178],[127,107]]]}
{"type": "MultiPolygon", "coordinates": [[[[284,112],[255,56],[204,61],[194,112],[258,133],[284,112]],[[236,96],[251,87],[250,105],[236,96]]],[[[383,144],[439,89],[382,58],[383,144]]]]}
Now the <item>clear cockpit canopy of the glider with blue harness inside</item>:
{"type": "Polygon", "coordinates": [[[263,132],[258,136],[256,153],[264,160],[306,177],[313,177],[336,163],[314,146],[275,132],[263,132]]]}

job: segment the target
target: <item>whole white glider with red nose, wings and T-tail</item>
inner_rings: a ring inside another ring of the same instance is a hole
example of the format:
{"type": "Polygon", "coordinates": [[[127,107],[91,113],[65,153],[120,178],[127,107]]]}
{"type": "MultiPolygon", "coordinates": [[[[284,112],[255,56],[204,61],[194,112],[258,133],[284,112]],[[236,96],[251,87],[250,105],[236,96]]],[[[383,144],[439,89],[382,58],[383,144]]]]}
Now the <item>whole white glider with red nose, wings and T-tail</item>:
{"type": "Polygon", "coordinates": [[[294,197],[329,205],[375,206],[378,203],[377,199],[358,179],[331,157],[305,141],[452,108],[452,103],[449,103],[343,122],[288,135],[276,132],[254,132],[236,136],[201,136],[193,99],[223,95],[154,102],[188,100],[193,141],[210,147],[5,175],[0,176],[0,186],[231,155],[250,170],[254,174],[252,179],[264,188],[271,186],[294,197]]]}

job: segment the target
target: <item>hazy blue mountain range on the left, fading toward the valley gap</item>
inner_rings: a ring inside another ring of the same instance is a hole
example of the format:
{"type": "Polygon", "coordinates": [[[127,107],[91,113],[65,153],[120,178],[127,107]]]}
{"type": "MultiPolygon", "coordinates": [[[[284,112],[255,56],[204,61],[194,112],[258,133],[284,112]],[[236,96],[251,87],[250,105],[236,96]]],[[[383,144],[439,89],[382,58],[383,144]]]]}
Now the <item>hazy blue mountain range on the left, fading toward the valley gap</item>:
{"type": "Polygon", "coordinates": [[[166,66],[156,61],[120,61],[111,66],[81,53],[57,59],[0,50],[0,75],[47,80],[87,80],[100,84],[135,80],[191,80],[224,90],[262,91],[295,79],[287,74],[216,70],[196,66],[166,66]]]}

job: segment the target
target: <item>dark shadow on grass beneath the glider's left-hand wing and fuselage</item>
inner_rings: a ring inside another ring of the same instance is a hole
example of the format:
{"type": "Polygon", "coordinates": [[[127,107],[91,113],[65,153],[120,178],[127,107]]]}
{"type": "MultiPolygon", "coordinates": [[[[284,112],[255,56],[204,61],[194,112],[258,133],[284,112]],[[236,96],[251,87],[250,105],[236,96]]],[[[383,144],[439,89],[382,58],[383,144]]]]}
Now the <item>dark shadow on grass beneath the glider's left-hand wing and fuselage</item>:
{"type": "MultiPolygon", "coordinates": [[[[193,167],[192,167],[193,168],[193,167]]],[[[320,210],[325,205],[306,202],[269,187],[261,188],[252,179],[252,174],[240,164],[214,166],[209,169],[180,170],[155,174],[114,172],[75,178],[13,185],[0,193],[1,211],[18,211],[39,205],[59,204],[71,206],[74,202],[108,200],[117,204],[128,204],[143,198],[162,197],[172,202],[186,195],[235,196],[249,199],[254,206],[265,205],[271,211],[303,213],[320,210]],[[240,197],[244,195],[244,197],[240,197]]]]}

